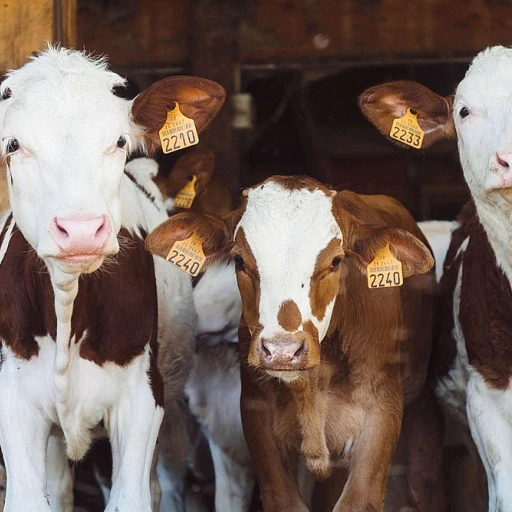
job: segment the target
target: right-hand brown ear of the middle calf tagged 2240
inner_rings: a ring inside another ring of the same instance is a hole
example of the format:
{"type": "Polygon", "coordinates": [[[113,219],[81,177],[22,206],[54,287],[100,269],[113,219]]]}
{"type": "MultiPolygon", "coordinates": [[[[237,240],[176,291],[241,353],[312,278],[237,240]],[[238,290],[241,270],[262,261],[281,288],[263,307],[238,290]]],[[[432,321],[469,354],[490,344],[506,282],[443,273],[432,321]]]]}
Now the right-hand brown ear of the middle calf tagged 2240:
{"type": "Polygon", "coordinates": [[[434,266],[434,258],[427,246],[405,229],[361,226],[347,252],[356,257],[360,270],[366,275],[366,267],[386,244],[393,256],[402,262],[404,279],[424,274],[434,266]]]}

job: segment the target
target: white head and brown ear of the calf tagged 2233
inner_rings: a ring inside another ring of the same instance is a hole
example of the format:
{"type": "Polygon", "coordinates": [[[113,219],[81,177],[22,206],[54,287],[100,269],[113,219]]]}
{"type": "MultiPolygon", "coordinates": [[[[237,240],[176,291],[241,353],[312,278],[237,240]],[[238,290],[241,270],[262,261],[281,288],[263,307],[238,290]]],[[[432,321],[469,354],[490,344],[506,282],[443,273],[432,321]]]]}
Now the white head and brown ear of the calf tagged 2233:
{"type": "Polygon", "coordinates": [[[425,132],[425,147],[457,137],[473,197],[512,201],[512,49],[480,52],[454,95],[443,98],[415,82],[391,82],[363,92],[359,105],[385,136],[393,120],[412,108],[425,132]]]}

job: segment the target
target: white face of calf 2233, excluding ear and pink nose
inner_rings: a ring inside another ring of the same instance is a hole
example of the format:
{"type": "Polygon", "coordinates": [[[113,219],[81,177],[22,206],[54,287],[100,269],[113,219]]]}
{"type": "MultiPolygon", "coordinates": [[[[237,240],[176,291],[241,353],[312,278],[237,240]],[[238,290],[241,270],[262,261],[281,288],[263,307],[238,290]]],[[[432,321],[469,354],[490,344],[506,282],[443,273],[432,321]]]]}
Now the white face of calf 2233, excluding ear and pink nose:
{"type": "Polygon", "coordinates": [[[453,107],[462,167],[478,199],[500,186],[496,153],[512,153],[512,49],[480,52],[457,87],[453,107]],[[463,107],[466,117],[460,115],[463,107]]]}

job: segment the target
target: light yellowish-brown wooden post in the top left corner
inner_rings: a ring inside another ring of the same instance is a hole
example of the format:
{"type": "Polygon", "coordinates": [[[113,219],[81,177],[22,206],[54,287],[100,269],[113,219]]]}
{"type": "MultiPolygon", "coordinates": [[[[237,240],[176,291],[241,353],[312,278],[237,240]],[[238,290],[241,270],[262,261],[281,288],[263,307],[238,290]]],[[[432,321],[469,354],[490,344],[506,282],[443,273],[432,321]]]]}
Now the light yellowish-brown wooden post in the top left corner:
{"type": "MultiPolygon", "coordinates": [[[[47,42],[76,44],[76,0],[3,0],[0,20],[0,75],[20,67],[47,42]]],[[[0,163],[0,213],[7,206],[5,169],[0,163]]]]}

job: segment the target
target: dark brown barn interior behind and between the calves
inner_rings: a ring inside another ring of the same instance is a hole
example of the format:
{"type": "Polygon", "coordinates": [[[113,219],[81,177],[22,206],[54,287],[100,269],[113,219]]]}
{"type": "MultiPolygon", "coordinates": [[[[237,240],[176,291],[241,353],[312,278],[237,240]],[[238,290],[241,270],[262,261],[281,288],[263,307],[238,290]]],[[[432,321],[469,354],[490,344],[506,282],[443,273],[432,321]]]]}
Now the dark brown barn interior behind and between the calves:
{"type": "MultiPolygon", "coordinates": [[[[469,198],[456,143],[421,151],[393,145],[357,98],[393,80],[449,95],[477,52],[512,44],[510,0],[4,0],[0,19],[2,74],[58,41],[108,56],[127,77],[119,94],[129,98],[171,75],[223,85],[228,99],[199,143],[215,154],[205,197],[221,214],[237,206],[243,187],[307,174],[338,189],[393,196],[418,221],[455,219],[469,198]]],[[[160,175],[188,151],[156,155],[160,175]]],[[[0,190],[0,210],[4,197],[0,190]]],[[[481,468],[454,428],[448,422],[449,510],[480,512],[481,468]]],[[[390,484],[398,490],[402,448],[390,484]]],[[[104,455],[108,445],[94,450],[104,455]]],[[[76,466],[81,512],[103,510],[89,457],[76,466]]],[[[190,475],[191,511],[213,510],[213,479],[211,465],[190,475]]],[[[256,495],[252,510],[261,510],[256,495]]],[[[386,508],[408,510],[399,501],[386,508]]]]}

